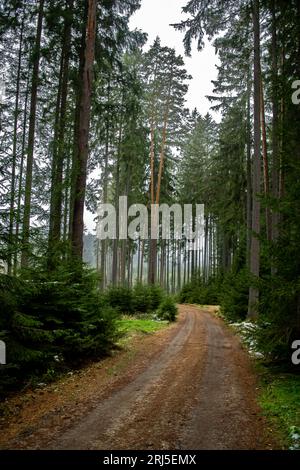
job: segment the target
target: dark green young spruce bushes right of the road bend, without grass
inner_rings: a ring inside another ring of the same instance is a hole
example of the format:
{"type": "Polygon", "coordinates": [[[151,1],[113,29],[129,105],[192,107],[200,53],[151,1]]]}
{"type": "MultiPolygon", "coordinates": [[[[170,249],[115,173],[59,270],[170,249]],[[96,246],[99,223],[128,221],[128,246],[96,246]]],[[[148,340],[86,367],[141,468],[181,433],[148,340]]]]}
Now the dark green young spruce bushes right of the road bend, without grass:
{"type": "MultiPolygon", "coordinates": [[[[229,272],[205,281],[195,274],[178,294],[179,303],[219,305],[225,320],[241,323],[251,329],[252,340],[258,350],[272,364],[291,365],[291,345],[300,336],[295,293],[291,284],[280,284],[262,279],[264,289],[258,304],[255,321],[248,317],[248,290],[250,275],[246,270],[229,272]],[[246,322],[246,323],[245,323],[246,322]]],[[[295,286],[294,286],[295,287],[295,286]]]]}

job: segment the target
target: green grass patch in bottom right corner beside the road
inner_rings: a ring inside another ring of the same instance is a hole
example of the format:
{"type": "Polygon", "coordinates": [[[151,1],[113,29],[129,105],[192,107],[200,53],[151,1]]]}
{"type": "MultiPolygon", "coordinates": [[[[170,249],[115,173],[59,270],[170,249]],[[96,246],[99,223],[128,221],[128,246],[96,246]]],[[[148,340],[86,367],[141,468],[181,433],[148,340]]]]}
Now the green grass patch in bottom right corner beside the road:
{"type": "Polygon", "coordinates": [[[300,375],[262,368],[263,413],[278,429],[284,447],[300,450],[300,375]]]}

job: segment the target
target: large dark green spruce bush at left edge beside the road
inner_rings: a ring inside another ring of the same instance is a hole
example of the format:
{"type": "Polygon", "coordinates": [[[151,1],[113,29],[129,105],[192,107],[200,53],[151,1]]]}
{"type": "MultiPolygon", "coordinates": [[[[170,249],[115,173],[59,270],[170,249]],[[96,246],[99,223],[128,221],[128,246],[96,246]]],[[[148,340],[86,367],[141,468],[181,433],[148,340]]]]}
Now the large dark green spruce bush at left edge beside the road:
{"type": "Polygon", "coordinates": [[[87,269],[36,270],[22,280],[0,276],[0,328],[8,361],[0,371],[2,391],[109,350],[117,314],[104,304],[96,285],[87,269]]]}

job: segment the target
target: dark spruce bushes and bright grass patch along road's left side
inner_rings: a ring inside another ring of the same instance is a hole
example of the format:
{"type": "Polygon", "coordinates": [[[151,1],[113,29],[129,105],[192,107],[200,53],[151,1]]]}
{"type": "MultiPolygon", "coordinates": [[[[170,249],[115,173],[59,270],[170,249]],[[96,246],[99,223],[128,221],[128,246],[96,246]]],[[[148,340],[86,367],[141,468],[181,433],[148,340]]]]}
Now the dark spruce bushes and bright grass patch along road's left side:
{"type": "Polygon", "coordinates": [[[154,333],[177,315],[160,287],[101,292],[99,276],[82,267],[66,266],[52,276],[36,268],[22,279],[1,275],[0,284],[1,339],[9,351],[0,366],[0,396],[99,360],[121,336],[154,333]]]}

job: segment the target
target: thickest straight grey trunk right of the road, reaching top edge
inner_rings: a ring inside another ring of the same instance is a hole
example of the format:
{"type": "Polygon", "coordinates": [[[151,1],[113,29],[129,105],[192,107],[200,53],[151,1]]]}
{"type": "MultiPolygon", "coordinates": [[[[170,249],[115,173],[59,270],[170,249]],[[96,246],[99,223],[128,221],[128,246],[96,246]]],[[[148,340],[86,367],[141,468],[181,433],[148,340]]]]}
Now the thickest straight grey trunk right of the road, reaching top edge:
{"type": "MultiPolygon", "coordinates": [[[[259,0],[253,0],[253,27],[254,27],[254,159],[253,159],[253,211],[252,211],[252,238],[250,255],[250,272],[258,278],[260,272],[260,24],[259,0]]],[[[248,318],[258,316],[257,302],[259,290],[251,286],[249,289],[248,318]]]]}

